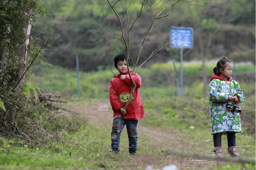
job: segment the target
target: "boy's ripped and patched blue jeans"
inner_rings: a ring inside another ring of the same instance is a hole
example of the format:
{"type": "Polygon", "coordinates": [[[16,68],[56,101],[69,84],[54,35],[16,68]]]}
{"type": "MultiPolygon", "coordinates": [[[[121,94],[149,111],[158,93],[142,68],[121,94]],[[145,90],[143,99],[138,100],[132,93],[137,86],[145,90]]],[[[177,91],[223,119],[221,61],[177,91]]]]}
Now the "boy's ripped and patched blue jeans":
{"type": "Polygon", "coordinates": [[[123,128],[126,125],[127,134],[129,138],[129,152],[137,150],[137,123],[138,120],[128,120],[121,116],[115,116],[113,120],[111,132],[111,149],[118,148],[120,143],[120,136],[123,128]]]}

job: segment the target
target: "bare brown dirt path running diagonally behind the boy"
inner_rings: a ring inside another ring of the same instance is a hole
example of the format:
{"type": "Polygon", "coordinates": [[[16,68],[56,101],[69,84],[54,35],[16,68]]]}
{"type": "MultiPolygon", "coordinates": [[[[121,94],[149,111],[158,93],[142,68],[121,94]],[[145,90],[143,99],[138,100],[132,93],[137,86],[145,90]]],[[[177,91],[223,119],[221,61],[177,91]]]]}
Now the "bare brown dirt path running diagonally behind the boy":
{"type": "MultiPolygon", "coordinates": [[[[79,102],[70,102],[70,108],[76,113],[83,114],[88,121],[96,125],[101,125],[111,129],[113,121],[113,111],[111,105],[107,99],[92,100],[91,102],[84,103],[81,105],[79,102]]],[[[144,118],[142,118],[144,119],[144,118]]],[[[126,128],[123,130],[125,132],[126,128]]],[[[202,147],[198,144],[195,144],[191,141],[183,139],[182,133],[163,131],[160,129],[153,129],[152,127],[145,127],[140,124],[140,121],[137,126],[139,138],[143,138],[148,141],[148,145],[154,145],[159,147],[158,149],[163,150],[184,150],[189,151],[190,149],[196,149],[200,153],[202,147]]],[[[210,156],[210,155],[209,155],[210,156]]],[[[187,157],[184,159],[181,157],[172,157],[168,158],[168,162],[165,162],[166,165],[176,164],[178,169],[186,169],[186,167],[193,167],[195,169],[209,169],[209,165],[216,164],[216,161],[201,159],[199,157],[187,157]]]]}

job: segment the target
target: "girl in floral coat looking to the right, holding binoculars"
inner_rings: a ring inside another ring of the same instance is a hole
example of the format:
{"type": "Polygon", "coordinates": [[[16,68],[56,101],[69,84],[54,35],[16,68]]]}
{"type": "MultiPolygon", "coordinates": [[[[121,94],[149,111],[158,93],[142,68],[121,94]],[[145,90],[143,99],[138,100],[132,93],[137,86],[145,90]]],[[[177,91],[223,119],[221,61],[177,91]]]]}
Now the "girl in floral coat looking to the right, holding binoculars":
{"type": "Polygon", "coordinates": [[[219,60],[217,66],[213,68],[211,83],[208,88],[211,134],[215,156],[222,158],[221,136],[227,134],[228,153],[231,157],[240,157],[236,147],[235,133],[242,132],[240,114],[232,109],[236,103],[244,101],[245,97],[239,84],[231,77],[233,64],[227,57],[219,60]],[[227,109],[227,104],[230,108],[227,109]]]}

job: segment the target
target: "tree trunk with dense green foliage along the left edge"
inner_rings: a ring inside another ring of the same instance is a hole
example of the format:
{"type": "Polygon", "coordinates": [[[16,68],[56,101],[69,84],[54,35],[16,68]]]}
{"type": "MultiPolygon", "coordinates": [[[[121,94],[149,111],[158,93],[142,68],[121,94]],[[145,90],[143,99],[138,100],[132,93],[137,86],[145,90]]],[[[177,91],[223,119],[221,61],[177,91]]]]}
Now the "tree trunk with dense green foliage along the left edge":
{"type": "MultiPolygon", "coordinates": [[[[46,16],[46,8],[40,6],[39,1],[27,0],[1,1],[0,8],[0,135],[28,140],[40,136],[40,140],[48,128],[44,129],[48,122],[42,116],[45,106],[39,105],[34,84],[24,84],[24,80],[31,64],[40,62],[43,51],[37,47],[41,39],[29,35],[30,31],[27,31],[29,26],[36,29],[33,24],[46,16]]],[[[49,34],[52,32],[52,29],[46,28],[44,36],[51,39],[49,34]]]]}

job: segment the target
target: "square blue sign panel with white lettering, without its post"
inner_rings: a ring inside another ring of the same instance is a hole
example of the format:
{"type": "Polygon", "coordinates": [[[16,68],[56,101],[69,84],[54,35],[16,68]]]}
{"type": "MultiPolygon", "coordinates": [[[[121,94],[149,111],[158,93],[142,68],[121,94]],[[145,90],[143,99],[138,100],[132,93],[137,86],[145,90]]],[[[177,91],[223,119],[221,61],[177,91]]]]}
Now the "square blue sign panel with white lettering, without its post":
{"type": "Polygon", "coordinates": [[[172,27],[170,34],[170,46],[174,48],[192,48],[193,28],[172,27]]]}

